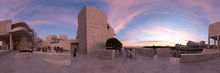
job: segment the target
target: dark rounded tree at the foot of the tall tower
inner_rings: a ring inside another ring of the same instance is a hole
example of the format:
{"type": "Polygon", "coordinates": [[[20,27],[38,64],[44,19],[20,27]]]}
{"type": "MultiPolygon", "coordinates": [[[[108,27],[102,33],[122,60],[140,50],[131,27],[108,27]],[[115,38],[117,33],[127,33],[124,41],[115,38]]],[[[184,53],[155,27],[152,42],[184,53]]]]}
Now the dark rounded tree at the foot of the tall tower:
{"type": "Polygon", "coordinates": [[[122,43],[116,38],[109,38],[106,41],[105,46],[107,47],[106,49],[109,49],[109,50],[121,50],[122,43]]]}

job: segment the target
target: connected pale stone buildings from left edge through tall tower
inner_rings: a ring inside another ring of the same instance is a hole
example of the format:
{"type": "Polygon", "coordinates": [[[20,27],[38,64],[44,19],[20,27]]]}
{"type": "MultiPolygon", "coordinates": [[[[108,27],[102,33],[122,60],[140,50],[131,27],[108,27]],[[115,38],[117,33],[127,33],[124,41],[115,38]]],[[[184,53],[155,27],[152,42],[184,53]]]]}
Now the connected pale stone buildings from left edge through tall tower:
{"type": "Polygon", "coordinates": [[[0,41],[3,48],[35,49],[41,47],[62,47],[64,50],[77,48],[87,54],[95,49],[105,49],[105,42],[114,37],[113,28],[107,23],[107,14],[98,8],[85,6],[78,15],[76,40],[68,40],[66,35],[49,35],[46,40],[34,37],[34,32],[24,22],[0,22],[0,41]]]}

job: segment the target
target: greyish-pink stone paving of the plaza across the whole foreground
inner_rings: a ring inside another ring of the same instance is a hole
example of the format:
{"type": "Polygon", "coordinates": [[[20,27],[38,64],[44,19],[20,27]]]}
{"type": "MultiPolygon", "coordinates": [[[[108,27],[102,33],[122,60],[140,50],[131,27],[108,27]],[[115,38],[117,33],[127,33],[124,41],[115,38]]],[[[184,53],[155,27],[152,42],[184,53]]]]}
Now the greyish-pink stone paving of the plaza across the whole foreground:
{"type": "Polygon", "coordinates": [[[0,56],[0,73],[220,73],[220,58],[179,63],[179,59],[138,56],[137,60],[105,60],[80,55],[71,66],[43,61],[44,55],[31,53],[28,59],[15,59],[14,54],[0,56]]]}

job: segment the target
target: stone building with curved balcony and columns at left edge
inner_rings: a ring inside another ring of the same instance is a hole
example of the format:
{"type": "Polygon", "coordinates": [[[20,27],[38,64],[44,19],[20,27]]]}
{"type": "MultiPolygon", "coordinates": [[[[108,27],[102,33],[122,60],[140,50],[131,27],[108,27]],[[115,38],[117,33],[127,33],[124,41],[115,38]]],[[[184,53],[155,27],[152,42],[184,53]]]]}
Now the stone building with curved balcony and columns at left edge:
{"type": "Polygon", "coordinates": [[[25,22],[0,21],[2,49],[33,48],[34,31],[25,22]]]}

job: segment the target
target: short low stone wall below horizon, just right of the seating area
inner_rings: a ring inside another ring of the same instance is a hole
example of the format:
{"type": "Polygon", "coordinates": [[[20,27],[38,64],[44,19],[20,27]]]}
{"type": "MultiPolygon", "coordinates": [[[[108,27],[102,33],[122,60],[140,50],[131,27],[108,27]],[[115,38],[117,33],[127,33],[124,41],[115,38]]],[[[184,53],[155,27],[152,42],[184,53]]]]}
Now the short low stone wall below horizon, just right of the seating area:
{"type": "Polygon", "coordinates": [[[136,53],[149,57],[153,57],[155,55],[155,51],[153,48],[136,48],[136,53]]]}

